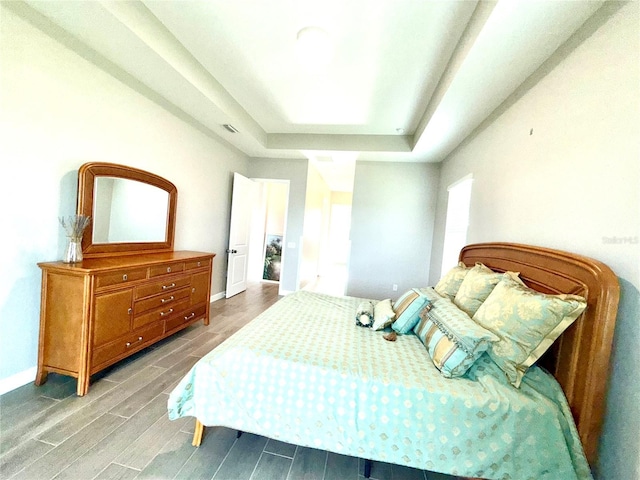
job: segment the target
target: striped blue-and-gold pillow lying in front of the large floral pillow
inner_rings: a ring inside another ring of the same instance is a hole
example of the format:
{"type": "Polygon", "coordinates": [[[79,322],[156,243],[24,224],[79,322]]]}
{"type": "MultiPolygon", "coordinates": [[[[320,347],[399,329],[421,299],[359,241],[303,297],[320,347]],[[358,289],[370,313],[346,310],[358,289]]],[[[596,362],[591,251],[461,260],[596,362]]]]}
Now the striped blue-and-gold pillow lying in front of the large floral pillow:
{"type": "Polygon", "coordinates": [[[413,331],[447,378],[460,377],[498,337],[474,322],[448,298],[427,306],[413,331]]]}

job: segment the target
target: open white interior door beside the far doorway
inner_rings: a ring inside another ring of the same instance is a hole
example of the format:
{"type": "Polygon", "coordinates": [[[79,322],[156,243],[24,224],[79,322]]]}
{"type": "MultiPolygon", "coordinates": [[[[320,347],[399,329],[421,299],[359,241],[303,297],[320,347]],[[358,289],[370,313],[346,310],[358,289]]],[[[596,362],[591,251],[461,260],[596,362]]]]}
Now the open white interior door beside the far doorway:
{"type": "Polygon", "coordinates": [[[256,192],[255,182],[239,173],[233,174],[229,248],[227,249],[227,298],[247,289],[251,212],[255,204],[256,192]]]}

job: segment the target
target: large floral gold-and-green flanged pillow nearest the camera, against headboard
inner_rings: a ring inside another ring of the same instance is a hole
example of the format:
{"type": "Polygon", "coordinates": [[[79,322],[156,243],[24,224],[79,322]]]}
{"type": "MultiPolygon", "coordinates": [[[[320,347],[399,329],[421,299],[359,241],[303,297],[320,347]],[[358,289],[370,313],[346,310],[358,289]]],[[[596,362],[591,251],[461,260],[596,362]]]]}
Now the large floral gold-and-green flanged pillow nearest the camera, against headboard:
{"type": "Polygon", "coordinates": [[[473,320],[498,335],[489,356],[519,387],[527,369],[586,306],[577,295],[538,293],[504,274],[473,320]]]}

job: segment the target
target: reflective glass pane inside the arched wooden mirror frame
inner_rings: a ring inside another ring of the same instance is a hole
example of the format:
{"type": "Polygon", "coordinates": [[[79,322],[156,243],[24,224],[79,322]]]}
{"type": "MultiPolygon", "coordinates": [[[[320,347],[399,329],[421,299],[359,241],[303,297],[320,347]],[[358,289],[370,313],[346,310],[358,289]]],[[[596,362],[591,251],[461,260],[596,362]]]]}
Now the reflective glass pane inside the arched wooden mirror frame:
{"type": "Polygon", "coordinates": [[[169,192],[148,183],[96,177],[93,243],[164,242],[169,192]]]}

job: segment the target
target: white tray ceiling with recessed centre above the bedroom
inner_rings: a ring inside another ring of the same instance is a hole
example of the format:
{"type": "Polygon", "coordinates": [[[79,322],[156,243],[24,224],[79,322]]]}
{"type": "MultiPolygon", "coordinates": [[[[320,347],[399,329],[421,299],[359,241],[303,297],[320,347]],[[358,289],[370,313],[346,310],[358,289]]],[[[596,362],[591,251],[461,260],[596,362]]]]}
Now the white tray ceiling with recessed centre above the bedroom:
{"type": "Polygon", "coordinates": [[[356,159],[444,159],[602,3],[27,0],[54,36],[247,155],[351,165],[335,190],[356,159]],[[324,68],[297,60],[307,26],[331,39],[324,68]]]}

